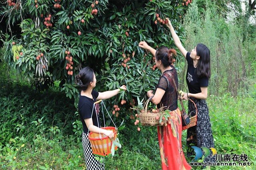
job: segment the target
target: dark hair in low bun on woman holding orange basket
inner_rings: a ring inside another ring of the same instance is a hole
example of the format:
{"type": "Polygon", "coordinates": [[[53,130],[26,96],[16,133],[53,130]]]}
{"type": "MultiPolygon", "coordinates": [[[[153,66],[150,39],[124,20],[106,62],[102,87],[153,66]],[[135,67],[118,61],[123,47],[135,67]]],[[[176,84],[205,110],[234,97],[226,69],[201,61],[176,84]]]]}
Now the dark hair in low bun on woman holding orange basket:
{"type": "Polygon", "coordinates": [[[80,90],[86,90],[94,80],[94,71],[89,66],[82,68],[76,75],[76,84],[80,86],[80,90]]]}

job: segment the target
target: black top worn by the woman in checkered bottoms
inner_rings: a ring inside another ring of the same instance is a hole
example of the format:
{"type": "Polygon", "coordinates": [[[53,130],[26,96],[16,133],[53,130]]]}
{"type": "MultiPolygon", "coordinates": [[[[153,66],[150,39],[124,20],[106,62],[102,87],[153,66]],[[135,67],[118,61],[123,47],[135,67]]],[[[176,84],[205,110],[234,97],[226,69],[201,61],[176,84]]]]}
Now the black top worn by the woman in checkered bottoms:
{"type": "Polygon", "coordinates": [[[79,102],[78,102],[78,113],[80,115],[80,119],[81,119],[83,127],[84,127],[84,133],[88,133],[88,128],[85,124],[84,119],[88,119],[88,118],[92,117],[92,122],[93,122],[94,126],[100,127],[100,125],[101,125],[100,105],[95,104],[97,114],[96,114],[95,108],[93,108],[93,104],[94,104],[94,102],[97,102],[96,98],[98,98],[98,96],[99,96],[99,92],[96,92],[95,90],[92,90],[93,99],[88,98],[86,96],[81,96],[81,94],[80,94],[79,102]],[[93,114],[92,114],[92,108],[93,108],[93,114]],[[97,121],[97,117],[98,117],[98,121],[97,121]]]}

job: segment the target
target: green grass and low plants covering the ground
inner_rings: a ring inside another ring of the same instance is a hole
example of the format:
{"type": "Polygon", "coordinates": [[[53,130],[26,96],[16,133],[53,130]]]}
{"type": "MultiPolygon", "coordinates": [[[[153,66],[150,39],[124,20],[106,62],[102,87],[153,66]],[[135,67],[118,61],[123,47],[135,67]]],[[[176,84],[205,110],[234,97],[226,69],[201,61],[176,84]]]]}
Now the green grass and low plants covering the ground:
{"type": "MultiPolygon", "coordinates": [[[[39,103],[40,102],[38,102],[38,104],[39,103]]],[[[226,94],[220,97],[209,96],[207,103],[210,110],[212,133],[217,153],[247,154],[248,162],[251,164],[251,166],[212,166],[211,169],[254,170],[256,164],[256,119],[254,117],[256,98],[251,96],[234,98],[230,94],[226,94]]],[[[187,107],[186,104],[185,107],[187,107]]],[[[3,113],[4,109],[3,107],[1,108],[1,113],[3,113]]],[[[9,123],[12,123],[12,119],[14,119],[14,117],[10,116],[11,114],[12,113],[9,112],[10,119],[6,119],[9,123]]],[[[22,120],[22,114],[20,119],[22,120]]],[[[85,169],[86,166],[80,137],[82,131],[81,123],[74,121],[74,123],[72,123],[73,134],[64,135],[64,131],[67,129],[52,126],[51,121],[50,125],[47,125],[49,121],[46,121],[46,119],[48,119],[47,116],[32,119],[31,122],[26,121],[26,124],[33,128],[32,131],[28,133],[31,135],[30,137],[28,137],[26,133],[16,133],[27,128],[21,121],[16,125],[16,128],[13,128],[15,137],[10,138],[7,142],[4,142],[4,139],[1,138],[1,169],[85,169]],[[20,128],[20,130],[17,130],[18,128],[20,128]]],[[[55,119],[58,118],[55,117],[55,119]]],[[[4,125],[8,127],[8,124],[4,125]]],[[[114,157],[110,156],[105,158],[106,169],[160,170],[161,161],[158,151],[159,147],[157,138],[154,136],[156,135],[156,128],[143,127],[144,133],[135,133],[133,127],[127,126],[131,125],[127,124],[125,131],[132,135],[127,136],[122,133],[120,134],[119,139],[122,141],[122,149],[116,151],[114,157]]],[[[0,128],[4,128],[3,124],[0,125],[0,128]]],[[[6,131],[4,132],[7,134],[6,131]]],[[[183,132],[182,145],[186,153],[186,131],[183,132]]],[[[188,162],[190,161],[188,160],[188,162]]],[[[202,167],[194,166],[193,169],[202,169],[202,167]]]]}

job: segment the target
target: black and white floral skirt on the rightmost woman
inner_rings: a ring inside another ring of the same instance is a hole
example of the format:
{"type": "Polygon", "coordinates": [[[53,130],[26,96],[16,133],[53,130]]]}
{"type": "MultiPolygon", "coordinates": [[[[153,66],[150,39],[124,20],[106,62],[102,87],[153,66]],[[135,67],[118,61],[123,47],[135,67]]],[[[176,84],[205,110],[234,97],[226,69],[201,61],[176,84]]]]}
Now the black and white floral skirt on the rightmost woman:
{"type": "MultiPolygon", "coordinates": [[[[188,152],[187,156],[194,156],[195,152],[192,149],[192,146],[201,148],[206,147],[210,150],[210,155],[204,158],[204,162],[215,162],[216,155],[212,156],[212,150],[210,148],[214,147],[214,141],[212,136],[212,127],[210,123],[209,109],[206,104],[206,100],[190,98],[196,104],[198,109],[197,114],[197,123],[196,126],[190,127],[187,130],[187,145],[188,152]],[[192,136],[192,138],[191,138],[192,136]],[[193,151],[191,151],[193,150],[193,151]]],[[[188,113],[191,113],[192,116],[196,114],[195,106],[190,100],[188,100],[188,113]],[[191,113],[192,112],[192,113],[191,113]]],[[[202,150],[202,149],[201,149],[202,150]]],[[[204,154],[204,150],[202,150],[204,154]]],[[[191,158],[192,159],[192,158],[191,158]]]]}

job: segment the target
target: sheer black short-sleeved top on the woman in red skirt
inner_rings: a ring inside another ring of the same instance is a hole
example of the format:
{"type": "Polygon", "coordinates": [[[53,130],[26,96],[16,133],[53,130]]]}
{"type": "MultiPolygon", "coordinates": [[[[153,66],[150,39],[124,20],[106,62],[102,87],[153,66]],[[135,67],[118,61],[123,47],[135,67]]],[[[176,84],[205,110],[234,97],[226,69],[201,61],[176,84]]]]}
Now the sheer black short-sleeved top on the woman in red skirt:
{"type": "MultiPolygon", "coordinates": [[[[177,88],[178,88],[178,75],[174,66],[171,65],[171,67],[172,67],[172,70],[166,70],[162,74],[156,88],[161,88],[165,91],[164,96],[161,99],[161,102],[164,106],[167,106],[166,109],[173,111],[178,108],[178,96],[174,86],[174,82],[171,76],[167,73],[167,71],[172,74],[176,82],[177,88]]],[[[157,107],[160,108],[160,105],[158,104],[157,107]]]]}

